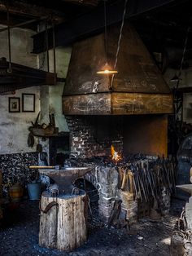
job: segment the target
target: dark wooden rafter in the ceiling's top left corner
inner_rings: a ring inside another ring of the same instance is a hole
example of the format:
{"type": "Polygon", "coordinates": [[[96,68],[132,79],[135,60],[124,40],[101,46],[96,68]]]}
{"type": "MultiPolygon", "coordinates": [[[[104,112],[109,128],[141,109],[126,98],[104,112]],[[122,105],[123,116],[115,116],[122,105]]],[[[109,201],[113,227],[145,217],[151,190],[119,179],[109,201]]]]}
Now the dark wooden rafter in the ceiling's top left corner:
{"type": "Polygon", "coordinates": [[[0,1],[0,11],[7,12],[7,7],[11,15],[20,15],[28,18],[40,18],[42,16],[51,17],[55,23],[60,23],[63,21],[63,12],[56,11],[54,9],[40,7],[35,4],[12,1],[7,6],[7,1],[0,1]]]}

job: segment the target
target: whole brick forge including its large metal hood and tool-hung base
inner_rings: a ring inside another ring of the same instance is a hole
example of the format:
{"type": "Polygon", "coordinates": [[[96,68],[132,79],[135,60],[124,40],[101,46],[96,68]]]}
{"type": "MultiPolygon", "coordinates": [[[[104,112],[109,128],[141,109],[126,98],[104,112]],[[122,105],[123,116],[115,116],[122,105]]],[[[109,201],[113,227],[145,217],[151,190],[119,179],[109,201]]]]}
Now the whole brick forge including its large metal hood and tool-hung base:
{"type": "MultiPolygon", "coordinates": [[[[116,24],[108,29],[107,55],[111,66],[116,58],[119,26],[116,24]]],[[[63,114],[70,130],[70,157],[82,165],[94,166],[85,178],[98,189],[98,211],[103,220],[110,222],[114,206],[118,210],[119,202],[119,214],[133,221],[138,201],[141,198],[142,202],[150,201],[151,196],[148,198],[145,189],[153,192],[152,187],[155,188],[155,183],[150,188],[150,179],[156,181],[158,174],[154,173],[159,172],[157,156],[168,155],[168,114],[173,109],[172,95],[155,61],[127,21],[116,67],[118,74],[99,76],[97,70],[105,64],[103,37],[101,33],[76,42],[72,49],[63,90],[63,114]],[[111,145],[122,156],[120,164],[110,158],[111,145]],[[133,159],[130,156],[134,154],[145,157],[133,159]],[[150,165],[154,166],[154,172],[143,167],[150,165]],[[146,173],[148,178],[142,177],[146,173]],[[139,186],[143,186],[140,195],[137,194],[139,186]]],[[[163,161],[161,164],[165,166],[163,161]]],[[[162,173],[166,174],[167,169],[162,173]]],[[[168,195],[173,178],[171,184],[166,183],[169,188],[165,189],[165,194],[168,195]]],[[[164,186],[161,185],[159,194],[163,195],[164,186]]],[[[155,201],[159,200],[154,194],[155,201]]]]}

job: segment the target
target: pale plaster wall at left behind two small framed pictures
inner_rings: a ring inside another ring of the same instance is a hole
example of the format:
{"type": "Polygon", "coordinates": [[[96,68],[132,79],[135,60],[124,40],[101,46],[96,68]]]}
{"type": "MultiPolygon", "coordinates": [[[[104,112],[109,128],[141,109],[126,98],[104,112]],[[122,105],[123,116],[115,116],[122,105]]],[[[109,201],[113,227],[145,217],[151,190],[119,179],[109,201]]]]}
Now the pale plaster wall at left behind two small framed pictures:
{"type": "MultiPolygon", "coordinates": [[[[32,35],[29,30],[11,29],[12,62],[37,68],[37,55],[30,53],[33,49],[32,35]]],[[[0,46],[0,57],[8,60],[7,31],[1,32],[0,46]]],[[[0,154],[36,151],[36,143],[33,148],[28,148],[27,139],[28,126],[31,126],[31,121],[35,121],[40,110],[39,97],[39,86],[16,90],[15,95],[0,95],[0,154]],[[22,113],[22,110],[20,113],[9,113],[8,97],[20,97],[21,104],[22,93],[36,95],[35,113],[22,113]]]]}

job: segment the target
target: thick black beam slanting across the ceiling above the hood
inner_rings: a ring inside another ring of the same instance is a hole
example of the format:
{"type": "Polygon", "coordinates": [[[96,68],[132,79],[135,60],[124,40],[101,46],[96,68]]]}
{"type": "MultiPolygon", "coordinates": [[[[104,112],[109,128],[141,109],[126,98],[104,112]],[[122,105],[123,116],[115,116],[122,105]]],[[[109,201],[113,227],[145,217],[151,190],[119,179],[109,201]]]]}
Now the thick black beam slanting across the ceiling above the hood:
{"type": "MultiPolygon", "coordinates": [[[[146,0],[128,2],[126,18],[134,18],[148,11],[155,11],[159,7],[165,7],[178,0],[146,0]]],[[[124,1],[117,1],[107,6],[107,25],[115,24],[122,20],[124,1]]],[[[97,7],[89,13],[79,16],[74,20],[55,25],[55,46],[66,46],[78,39],[98,33],[104,28],[103,7],[97,7]]],[[[46,32],[33,36],[33,53],[46,51],[46,32]]],[[[49,49],[53,47],[52,29],[48,29],[49,49]]]]}

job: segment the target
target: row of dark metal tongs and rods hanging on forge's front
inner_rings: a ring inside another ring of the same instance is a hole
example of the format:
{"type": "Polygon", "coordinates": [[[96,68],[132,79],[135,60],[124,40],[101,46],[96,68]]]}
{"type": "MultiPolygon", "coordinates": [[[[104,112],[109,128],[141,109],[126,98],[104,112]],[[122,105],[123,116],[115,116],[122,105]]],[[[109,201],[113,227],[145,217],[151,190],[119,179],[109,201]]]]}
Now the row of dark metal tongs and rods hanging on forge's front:
{"type": "Polygon", "coordinates": [[[162,188],[167,188],[170,193],[175,191],[177,168],[173,160],[144,159],[130,161],[125,166],[127,173],[133,173],[133,193],[136,199],[151,201],[152,196],[158,200],[162,188]]]}

